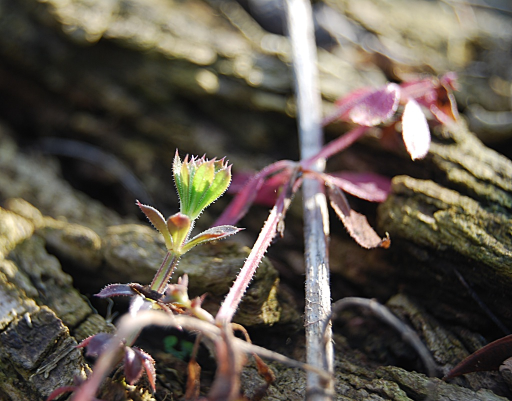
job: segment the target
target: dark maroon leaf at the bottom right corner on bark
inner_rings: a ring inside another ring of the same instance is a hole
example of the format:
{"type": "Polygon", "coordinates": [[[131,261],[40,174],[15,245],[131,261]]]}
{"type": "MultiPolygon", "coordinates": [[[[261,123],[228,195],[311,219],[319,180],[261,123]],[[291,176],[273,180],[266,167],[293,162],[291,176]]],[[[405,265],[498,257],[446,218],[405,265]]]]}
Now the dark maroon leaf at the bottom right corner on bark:
{"type": "Polygon", "coordinates": [[[483,370],[498,370],[509,357],[512,357],[512,334],[475,351],[448,372],[443,379],[483,370]]]}

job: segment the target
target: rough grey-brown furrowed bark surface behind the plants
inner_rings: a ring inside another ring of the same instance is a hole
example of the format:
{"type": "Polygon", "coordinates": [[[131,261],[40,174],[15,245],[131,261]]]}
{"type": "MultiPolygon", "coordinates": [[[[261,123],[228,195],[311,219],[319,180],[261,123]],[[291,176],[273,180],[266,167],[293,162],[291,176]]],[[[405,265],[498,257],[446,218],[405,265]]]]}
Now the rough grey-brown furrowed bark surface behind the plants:
{"type": "MultiPolygon", "coordinates": [[[[360,249],[331,224],[333,301],[387,303],[446,373],[512,327],[512,9],[498,0],[325,0],[314,11],[326,113],[355,88],[459,75],[463,120],[433,130],[425,160],[368,136],[328,163],[395,177],[378,208],[350,199],[390,233],[389,250],[360,249]]],[[[105,305],[87,296],[151,280],[161,241],[134,201],[175,212],[176,148],[227,156],[235,172],[297,158],[282,13],[279,2],[257,0],[0,0],[0,398],[42,399],[87,374],[90,361],[71,345],[111,327],[92,309],[105,315],[105,305]]],[[[345,129],[333,124],[326,140],[345,129]]],[[[298,209],[239,321],[254,343],[300,359],[298,209]]],[[[175,277],[195,272],[191,290],[208,291],[215,309],[266,212],[251,209],[236,242],[198,250],[175,277]]],[[[345,312],[334,332],[337,399],[510,397],[506,372],[456,384],[411,372],[424,372],[412,349],[366,311],[345,312]]],[[[163,352],[164,336],[142,339],[157,360],[155,399],[182,399],[185,365],[163,352]]],[[[203,363],[207,391],[214,367],[203,363]]],[[[272,366],[277,380],[264,399],[304,399],[302,373],[272,366]]],[[[256,399],[258,381],[249,366],[247,397],[256,399]]],[[[103,397],[149,399],[141,388],[114,376],[103,397]]]]}

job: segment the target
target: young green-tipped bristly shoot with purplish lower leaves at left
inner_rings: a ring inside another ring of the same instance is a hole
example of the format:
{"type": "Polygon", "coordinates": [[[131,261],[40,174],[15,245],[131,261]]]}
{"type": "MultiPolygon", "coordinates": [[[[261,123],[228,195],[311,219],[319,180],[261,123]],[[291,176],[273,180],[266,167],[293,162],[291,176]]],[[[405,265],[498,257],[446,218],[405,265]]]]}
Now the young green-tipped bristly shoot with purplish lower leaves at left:
{"type": "MultiPolygon", "coordinates": [[[[231,166],[221,160],[208,160],[204,156],[185,156],[180,160],[178,151],[173,161],[173,175],[180,200],[180,212],[170,216],[167,220],[152,206],[141,204],[145,216],[160,231],[167,248],[167,254],[155,274],[150,285],[138,283],[111,284],[103,288],[98,294],[100,298],[128,296],[132,297],[130,314],[135,316],[141,310],[163,309],[169,313],[186,313],[196,318],[213,322],[214,318],[201,308],[203,297],[194,300],[188,298],[188,278],[185,275],[178,279],[177,284],[168,284],[173,271],[181,256],[196,245],[219,240],[236,234],[240,228],[231,225],[222,225],[209,228],[190,238],[194,223],[203,210],[215,202],[227,189],[231,181],[231,166]]],[[[129,332],[128,335],[119,336],[119,333],[98,333],[83,340],[78,347],[87,348],[88,356],[100,357],[108,355],[108,363],[102,365],[98,360],[93,372],[93,380],[88,379],[76,390],[74,399],[91,399],[104,375],[108,374],[113,362],[114,365],[122,362],[124,374],[129,384],[136,384],[145,370],[148,381],[155,391],[155,361],[153,358],[133,344],[140,330],[129,332]],[[105,366],[106,364],[106,366],[105,366]],[[101,372],[101,374],[100,374],[101,372]],[[99,379],[98,379],[99,377],[99,379]]],[[[106,356],[105,356],[106,358],[106,356]]],[[[103,358],[103,361],[105,361],[103,358]]],[[[74,389],[74,388],[73,388],[74,389]]],[[[72,390],[73,390],[72,389],[72,390]]],[[[48,399],[53,399],[70,388],[57,389],[48,399]]]]}

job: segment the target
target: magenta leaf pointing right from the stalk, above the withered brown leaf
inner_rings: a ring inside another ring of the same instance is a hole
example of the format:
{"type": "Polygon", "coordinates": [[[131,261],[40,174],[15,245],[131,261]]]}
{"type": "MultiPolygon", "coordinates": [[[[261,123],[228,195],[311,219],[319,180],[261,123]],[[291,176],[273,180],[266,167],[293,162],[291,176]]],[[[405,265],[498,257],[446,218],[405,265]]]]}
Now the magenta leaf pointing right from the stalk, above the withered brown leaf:
{"type": "Polygon", "coordinates": [[[391,180],[373,173],[338,172],[322,174],[329,184],[370,202],[383,202],[388,197],[391,180]]]}

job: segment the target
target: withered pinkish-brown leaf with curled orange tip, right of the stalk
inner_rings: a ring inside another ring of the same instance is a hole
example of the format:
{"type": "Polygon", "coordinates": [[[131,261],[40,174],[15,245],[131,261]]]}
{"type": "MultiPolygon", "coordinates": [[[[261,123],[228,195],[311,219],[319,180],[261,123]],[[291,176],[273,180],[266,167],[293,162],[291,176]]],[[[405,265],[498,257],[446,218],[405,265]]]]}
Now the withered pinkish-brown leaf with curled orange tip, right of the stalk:
{"type": "Polygon", "coordinates": [[[381,239],[368,223],[366,216],[350,208],[347,198],[338,187],[328,185],[327,192],[332,208],[345,225],[350,236],[359,245],[364,248],[389,248],[391,244],[389,237],[381,239]]]}

